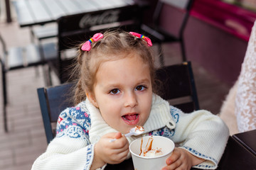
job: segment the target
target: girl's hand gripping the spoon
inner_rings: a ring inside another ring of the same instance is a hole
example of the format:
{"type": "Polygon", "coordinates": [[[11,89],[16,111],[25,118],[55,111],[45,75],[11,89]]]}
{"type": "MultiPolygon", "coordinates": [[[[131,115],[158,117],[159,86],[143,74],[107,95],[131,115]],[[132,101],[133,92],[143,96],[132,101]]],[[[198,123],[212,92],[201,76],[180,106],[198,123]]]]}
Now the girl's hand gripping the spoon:
{"type": "Polygon", "coordinates": [[[92,167],[95,169],[105,164],[119,164],[127,158],[129,142],[120,132],[108,133],[95,144],[95,157],[92,167]],[[110,142],[112,139],[118,139],[110,142]]]}

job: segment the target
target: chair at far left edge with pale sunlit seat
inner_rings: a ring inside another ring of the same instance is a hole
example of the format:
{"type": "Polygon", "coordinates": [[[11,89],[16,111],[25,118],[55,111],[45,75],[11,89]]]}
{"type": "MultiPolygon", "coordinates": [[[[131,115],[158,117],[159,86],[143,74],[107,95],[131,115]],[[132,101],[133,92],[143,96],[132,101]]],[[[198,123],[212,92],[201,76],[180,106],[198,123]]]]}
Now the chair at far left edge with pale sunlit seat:
{"type": "Polygon", "coordinates": [[[1,35],[0,43],[3,51],[3,55],[0,56],[0,62],[4,96],[4,129],[7,132],[6,106],[8,103],[8,97],[6,73],[14,69],[24,69],[27,67],[44,65],[49,61],[56,60],[56,50],[54,43],[44,43],[42,45],[29,44],[23,47],[11,47],[7,50],[6,43],[1,35]]]}

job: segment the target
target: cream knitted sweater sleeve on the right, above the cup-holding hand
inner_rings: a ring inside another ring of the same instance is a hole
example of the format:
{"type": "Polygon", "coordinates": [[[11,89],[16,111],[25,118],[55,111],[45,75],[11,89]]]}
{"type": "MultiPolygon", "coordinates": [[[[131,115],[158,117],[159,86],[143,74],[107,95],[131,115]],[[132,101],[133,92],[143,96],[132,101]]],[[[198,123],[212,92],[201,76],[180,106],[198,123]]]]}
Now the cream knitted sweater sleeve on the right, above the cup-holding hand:
{"type": "Polygon", "coordinates": [[[183,113],[171,106],[176,120],[172,140],[196,157],[206,159],[198,169],[216,169],[228,142],[229,131],[223,120],[208,111],[183,113]]]}

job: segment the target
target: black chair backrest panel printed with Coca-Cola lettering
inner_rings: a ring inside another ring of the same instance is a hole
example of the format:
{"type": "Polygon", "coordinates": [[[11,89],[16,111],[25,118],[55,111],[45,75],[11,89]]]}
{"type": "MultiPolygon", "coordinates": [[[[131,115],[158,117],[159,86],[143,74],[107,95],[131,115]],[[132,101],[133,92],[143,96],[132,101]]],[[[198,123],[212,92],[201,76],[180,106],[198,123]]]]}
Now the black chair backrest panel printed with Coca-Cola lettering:
{"type": "Polygon", "coordinates": [[[142,22],[142,11],[137,5],[63,16],[58,19],[59,50],[69,49],[110,28],[136,26],[142,22]]]}

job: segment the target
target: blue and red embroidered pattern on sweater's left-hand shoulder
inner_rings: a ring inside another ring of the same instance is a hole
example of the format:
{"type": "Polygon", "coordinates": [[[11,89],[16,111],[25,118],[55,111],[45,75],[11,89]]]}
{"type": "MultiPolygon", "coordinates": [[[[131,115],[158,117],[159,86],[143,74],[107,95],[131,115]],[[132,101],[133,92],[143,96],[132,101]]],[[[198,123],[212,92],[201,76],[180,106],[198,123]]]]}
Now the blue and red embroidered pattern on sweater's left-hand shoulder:
{"type": "Polygon", "coordinates": [[[66,108],[60,113],[57,123],[56,137],[89,139],[90,115],[82,103],[72,108],[66,108]]]}

